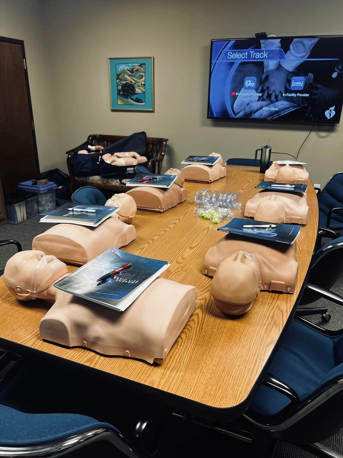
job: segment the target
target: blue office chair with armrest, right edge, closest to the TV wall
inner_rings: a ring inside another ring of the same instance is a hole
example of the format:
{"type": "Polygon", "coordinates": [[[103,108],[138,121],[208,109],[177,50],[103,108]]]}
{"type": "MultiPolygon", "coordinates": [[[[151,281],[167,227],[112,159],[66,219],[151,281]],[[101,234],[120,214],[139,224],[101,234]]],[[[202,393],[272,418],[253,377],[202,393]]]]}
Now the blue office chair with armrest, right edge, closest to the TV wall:
{"type": "Polygon", "coordinates": [[[332,175],[317,197],[319,225],[338,234],[343,229],[343,172],[332,175]]]}

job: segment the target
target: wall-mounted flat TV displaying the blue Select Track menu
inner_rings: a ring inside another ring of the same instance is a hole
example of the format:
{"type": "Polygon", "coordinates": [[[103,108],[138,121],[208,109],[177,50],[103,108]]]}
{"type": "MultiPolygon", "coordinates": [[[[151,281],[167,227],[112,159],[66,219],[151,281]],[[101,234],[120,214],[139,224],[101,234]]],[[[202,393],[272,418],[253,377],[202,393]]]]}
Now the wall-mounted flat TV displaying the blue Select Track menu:
{"type": "Polygon", "coordinates": [[[212,40],[208,118],[338,123],[343,36],[212,40]]]}

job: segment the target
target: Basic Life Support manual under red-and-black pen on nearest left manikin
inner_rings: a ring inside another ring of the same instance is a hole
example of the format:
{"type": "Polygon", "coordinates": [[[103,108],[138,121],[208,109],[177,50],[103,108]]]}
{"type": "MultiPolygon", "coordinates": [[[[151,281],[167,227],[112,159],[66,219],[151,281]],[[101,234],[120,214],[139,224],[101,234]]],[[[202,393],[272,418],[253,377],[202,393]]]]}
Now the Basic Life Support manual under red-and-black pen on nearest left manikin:
{"type": "Polygon", "coordinates": [[[54,286],[86,300],[125,310],[155,278],[169,267],[168,262],[136,256],[132,253],[110,248],[87,262],[54,286]],[[119,267],[130,267],[111,277],[98,281],[119,267]]]}

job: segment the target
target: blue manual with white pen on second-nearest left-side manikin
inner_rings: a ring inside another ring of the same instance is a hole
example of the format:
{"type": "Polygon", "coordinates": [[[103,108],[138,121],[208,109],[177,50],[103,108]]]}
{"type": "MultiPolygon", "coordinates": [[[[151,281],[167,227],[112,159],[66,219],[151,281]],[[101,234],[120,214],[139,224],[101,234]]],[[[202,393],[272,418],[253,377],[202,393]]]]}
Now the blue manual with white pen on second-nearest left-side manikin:
{"type": "Polygon", "coordinates": [[[105,207],[103,205],[81,205],[68,202],[61,207],[41,213],[45,215],[40,221],[43,223],[72,223],[85,226],[98,226],[108,217],[118,212],[119,207],[105,207]]]}

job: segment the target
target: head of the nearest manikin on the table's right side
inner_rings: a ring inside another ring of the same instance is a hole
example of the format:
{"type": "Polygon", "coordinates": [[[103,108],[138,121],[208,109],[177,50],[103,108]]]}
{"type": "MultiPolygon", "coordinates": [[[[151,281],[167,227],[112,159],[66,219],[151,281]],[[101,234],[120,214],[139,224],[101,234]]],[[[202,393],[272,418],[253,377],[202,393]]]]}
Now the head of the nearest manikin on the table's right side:
{"type": "Polygon", "coordinates": [[[254,257],[246,251],[238,251],[220,262],[210,293],[220,311],[241,315],[252,307],[260,284],[260,271],[254,257]]]}

